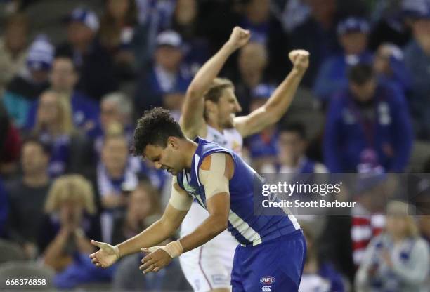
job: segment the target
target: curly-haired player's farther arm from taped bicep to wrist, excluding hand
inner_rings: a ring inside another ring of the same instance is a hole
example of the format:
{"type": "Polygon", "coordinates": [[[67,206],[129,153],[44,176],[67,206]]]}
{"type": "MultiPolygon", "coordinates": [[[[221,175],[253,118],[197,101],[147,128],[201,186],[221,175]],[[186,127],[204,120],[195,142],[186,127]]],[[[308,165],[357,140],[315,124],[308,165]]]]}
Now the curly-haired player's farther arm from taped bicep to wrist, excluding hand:
{"type": "Polygon", "coordinates": [[[119,244],[120,256],[140,252],[142,247],[155,246],[168,239],[178,229],[188,213],[193,199],[178,186],[176,177],[172,181],[171,193],[171,199],[162,218],[140,234],[119,244]]]}

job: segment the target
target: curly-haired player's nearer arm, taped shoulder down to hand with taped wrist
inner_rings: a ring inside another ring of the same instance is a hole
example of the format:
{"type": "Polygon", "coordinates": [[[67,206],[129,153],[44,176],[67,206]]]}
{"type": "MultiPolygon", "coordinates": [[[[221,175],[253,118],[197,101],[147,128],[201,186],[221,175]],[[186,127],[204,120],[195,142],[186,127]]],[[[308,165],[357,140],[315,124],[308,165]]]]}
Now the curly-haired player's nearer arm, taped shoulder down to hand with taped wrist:
{"type": "Polygon", "coordinates": [[[150,252],[143,258],[140,269],[143,272],[158,272],[186,251],[202,246],[226,230],[230,211],[229,180],[233,177],[233,159],[228,154],[215,153],[205,157],[200,166],[200,182],[206,194],[209,217],[193,232],[167,246],[143,248],[150,252]]]}

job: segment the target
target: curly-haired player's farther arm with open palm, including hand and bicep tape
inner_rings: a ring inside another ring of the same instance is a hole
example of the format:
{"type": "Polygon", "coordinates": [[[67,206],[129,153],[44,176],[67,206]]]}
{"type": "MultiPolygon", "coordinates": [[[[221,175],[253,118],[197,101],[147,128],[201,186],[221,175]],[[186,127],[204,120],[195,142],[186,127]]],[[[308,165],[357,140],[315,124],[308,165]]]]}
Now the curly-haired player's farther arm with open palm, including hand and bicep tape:
{"type": "Polygon", "coordinates": [[[127,239],[117,246],[111,246],[104,242],[91,241],[100,249],[90,255],[92,262],[97,267],[109,267],[119,258],[131,253],[141,252],[141,248],[155,246],[171,237],[181,225],[183,218],[188,213],[193,199],[179,186],[176,177],[172,181],[171,198],[164,210],[162,218],[150,225],[140,234],[127,239]]]}

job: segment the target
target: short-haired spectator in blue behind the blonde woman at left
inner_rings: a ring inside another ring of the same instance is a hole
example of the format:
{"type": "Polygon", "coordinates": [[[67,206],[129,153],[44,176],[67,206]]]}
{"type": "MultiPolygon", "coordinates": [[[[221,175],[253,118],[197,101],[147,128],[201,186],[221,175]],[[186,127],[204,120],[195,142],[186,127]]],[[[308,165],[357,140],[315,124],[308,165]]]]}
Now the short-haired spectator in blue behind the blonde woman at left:
{"type": "MultiPolygon", "coordinates": [[[[58,56],[54,59],[50,76],[51,90],[70,103],[74,126],[86,132],[96,127],[100,113],[96,102],[75,90],[78,79],[79,74],[70,57],[58,56]]],[[[27,129],[34,126],[38,106],[39,102],[34,102],[28,112],[27,129]]]]}

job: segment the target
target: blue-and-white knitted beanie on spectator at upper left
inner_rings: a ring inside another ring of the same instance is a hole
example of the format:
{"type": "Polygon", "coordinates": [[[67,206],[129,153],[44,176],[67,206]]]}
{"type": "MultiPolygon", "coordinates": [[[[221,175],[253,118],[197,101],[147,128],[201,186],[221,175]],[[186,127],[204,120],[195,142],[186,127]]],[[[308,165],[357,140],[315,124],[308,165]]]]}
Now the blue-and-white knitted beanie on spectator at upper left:
{"type": "Polygon", "coordinates": [[[54,48],[45,35],[39,35],[32,42],[27,55],[30,70],[49,70],[54,58],[54,48]]]}

